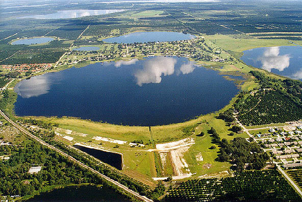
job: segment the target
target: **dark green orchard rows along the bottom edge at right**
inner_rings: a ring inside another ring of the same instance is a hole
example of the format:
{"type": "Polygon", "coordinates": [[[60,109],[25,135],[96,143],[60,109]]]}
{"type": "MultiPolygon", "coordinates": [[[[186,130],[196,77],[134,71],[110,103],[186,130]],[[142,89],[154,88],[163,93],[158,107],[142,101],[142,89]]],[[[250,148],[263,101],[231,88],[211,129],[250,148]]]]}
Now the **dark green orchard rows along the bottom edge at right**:
{"type": "Polygon", "coordinates": [[[167,190],[165,201],[298,201],[276,170],[237,171],[230,178],[189,180],[167,190]]]}

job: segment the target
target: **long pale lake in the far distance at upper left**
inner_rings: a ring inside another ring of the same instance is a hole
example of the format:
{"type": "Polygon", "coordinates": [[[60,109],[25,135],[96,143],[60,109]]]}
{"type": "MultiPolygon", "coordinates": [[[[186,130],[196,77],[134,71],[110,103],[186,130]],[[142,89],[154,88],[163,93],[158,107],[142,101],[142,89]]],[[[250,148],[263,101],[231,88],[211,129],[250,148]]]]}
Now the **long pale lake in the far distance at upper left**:
{"type": "Polygon", "coordinates": [[[124,10],[66,10],[57,11],[56,13],[45,14],[45,15],[30,15],[21,18],[35,18],[35,19],[66,19],[66,18],[77,18],[91,15],[104,15],[110,13],[121,12],[124,10]]]}

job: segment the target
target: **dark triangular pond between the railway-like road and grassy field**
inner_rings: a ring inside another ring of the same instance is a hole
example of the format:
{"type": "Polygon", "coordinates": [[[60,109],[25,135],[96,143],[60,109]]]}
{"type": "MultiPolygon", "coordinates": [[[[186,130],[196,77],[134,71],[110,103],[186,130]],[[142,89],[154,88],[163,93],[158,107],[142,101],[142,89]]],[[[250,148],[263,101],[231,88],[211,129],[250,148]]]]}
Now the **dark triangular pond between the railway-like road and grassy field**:
{"type": "Polygon", "coordinates": [[[105,152],[100,149],[89,148],[77,144],[74,144],[73,146],[77,149],[80,149],[82,152],[85,152],[93,156],[94,158],[103,161],[104,163],[107,163],[119,170],[122,169],[122,156],[120,154],[113,153],[113,152],[105,152]]]}

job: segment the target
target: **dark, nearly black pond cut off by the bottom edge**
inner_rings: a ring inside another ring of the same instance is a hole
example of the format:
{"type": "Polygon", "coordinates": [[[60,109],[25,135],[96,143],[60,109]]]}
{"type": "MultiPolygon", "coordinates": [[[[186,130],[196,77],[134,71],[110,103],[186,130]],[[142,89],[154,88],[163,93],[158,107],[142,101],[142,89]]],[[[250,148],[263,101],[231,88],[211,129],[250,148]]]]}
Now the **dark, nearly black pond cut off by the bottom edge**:
{"type": "Polygon", "coordinates": [[[41,193],[26,202],[129,202],[122,195],[105,186],[97,187],[91,185],[67,186],[61,189],[55,189],[50,192],[41,193]]]}

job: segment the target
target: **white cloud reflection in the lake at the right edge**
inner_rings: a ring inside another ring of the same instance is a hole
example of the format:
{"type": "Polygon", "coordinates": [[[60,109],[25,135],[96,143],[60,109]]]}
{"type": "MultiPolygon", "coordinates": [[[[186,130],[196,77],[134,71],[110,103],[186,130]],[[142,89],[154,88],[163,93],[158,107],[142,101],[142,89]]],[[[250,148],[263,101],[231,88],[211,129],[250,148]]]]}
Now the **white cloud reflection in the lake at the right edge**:
{"type": "Polygon", "coordinates": [[[278,69],[283,71],[289,66],[289,54],[280,56],[279,47],[269,47],[265,50],[263,57],[259,58],[258,61],[262,63],[262,69],[271,71],[271,69],[278,69]]]}

